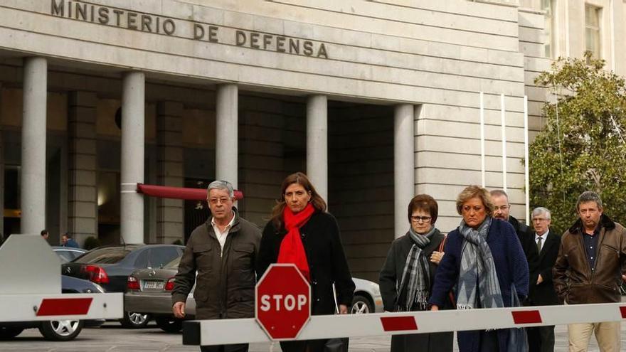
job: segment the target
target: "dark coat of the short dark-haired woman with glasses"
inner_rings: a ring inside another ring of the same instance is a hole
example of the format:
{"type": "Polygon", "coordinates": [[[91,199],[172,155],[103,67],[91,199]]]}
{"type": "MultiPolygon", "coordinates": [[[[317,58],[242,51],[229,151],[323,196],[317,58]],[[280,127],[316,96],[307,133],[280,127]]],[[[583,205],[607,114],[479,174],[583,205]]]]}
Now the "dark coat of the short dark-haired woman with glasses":
{"type": "MultiPolygon", "coordinates": [[[[413,241],[406,235],[397,238],[391,243],[391,248],[387,254],[387,259],[381,270],[378,284],[381,288],[381,296],[383,297],[383,306],[386,311],[395,311],[398,290],[396,287],[400,285],[402,274],[408,252],[413,246],[413,241]]],[[[435,272],[437,265],[430,262],[430,255],[434,251],[439,250],[441,241],[445,238],[439,230],[435,230],[430,243],[424,247],[423,252],[429,263],[430,271],[430,287],[432,289],[435,282],[435,272]]],[[[404,294],[404,293],[403,293],[404,294]]],[[[402,301],[403,299],[400,299],[402,301]]],[[[452,302],[445,304],[442,309],[452,308],[452,302]]],[[[452,332],[434,333],[434,334],[410,334],[410,335],[394,335],[391,338],[391,351],[452,351],[452,332]]]]}

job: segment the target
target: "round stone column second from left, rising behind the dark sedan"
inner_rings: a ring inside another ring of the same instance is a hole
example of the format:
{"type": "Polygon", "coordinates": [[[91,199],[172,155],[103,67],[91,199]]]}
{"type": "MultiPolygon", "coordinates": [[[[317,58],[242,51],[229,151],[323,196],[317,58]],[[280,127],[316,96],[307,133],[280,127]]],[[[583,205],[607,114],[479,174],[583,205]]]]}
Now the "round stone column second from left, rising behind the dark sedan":
{"type": "Polygon", "coordinates": [[[122,82],[122,170],[120,175],[120,235],[124,243],[144,242],[145,88],[141,72],[124,74],[122,82]]]}

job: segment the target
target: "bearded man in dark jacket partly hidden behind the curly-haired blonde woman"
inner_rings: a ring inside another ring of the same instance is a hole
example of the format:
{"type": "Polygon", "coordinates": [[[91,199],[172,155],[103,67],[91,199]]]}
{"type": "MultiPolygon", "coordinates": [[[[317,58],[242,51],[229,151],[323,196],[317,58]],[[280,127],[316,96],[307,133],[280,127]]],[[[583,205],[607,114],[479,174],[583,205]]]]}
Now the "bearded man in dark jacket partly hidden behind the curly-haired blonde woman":
{"type": "Polygon", "coordinates": [[[509,204],[509,195],[502,189],[494,189],[489,192],[492,196],[492,202],[494,203],[494,218],[502,219],[511,225],[515,229],[517,238],[521,244],[521,249],[524,250],[526,255],[526,262],[528,262],[529,270],[532,272],[537,262],[539,262],[539,253],[537,252],[537,246],[532,240],[530,228],[520,223],[516,218],[511,215],[511,204],[509,204]]]}

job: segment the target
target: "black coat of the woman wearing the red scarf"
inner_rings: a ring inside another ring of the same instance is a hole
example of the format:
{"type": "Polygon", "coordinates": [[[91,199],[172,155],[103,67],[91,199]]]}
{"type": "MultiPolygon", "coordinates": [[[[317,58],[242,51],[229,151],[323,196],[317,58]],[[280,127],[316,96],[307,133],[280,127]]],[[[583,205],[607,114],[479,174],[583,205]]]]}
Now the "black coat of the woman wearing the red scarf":
{"type": "MultiPolygon", "coordinates": [[[[259,278],[270,264],[278,259],[285,228],[277,229],[270,221],[265,225],[257,260],[259,278]]],[[[335,284],[337,303],[350,306],[354,296],[354,282],[348,267],[344,246],[341,245],[339,226],[333,215],[316,211],[300,228],[304,251],[307,253],[311,275],[311,313],[334,314],[335,301],[332,284],[335,284]]]]}

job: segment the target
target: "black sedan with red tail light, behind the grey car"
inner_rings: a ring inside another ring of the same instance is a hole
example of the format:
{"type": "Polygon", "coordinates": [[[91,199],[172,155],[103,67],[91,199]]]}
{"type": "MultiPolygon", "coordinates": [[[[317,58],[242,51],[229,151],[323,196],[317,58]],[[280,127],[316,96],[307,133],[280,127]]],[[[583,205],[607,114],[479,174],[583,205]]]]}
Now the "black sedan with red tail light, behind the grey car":
{"type": "MultiPolygon", "coordinates": [[[[128,275],[137,269],[161,268],[183,255],[181,245],[118,245],[98,247],[61,266],[61,274],[88,279],[105,292],[126,292],[128,275]]],[[[127,328],[142,328],[150,316],[124,309],[127,328]]]]}

